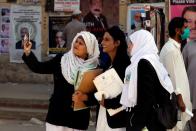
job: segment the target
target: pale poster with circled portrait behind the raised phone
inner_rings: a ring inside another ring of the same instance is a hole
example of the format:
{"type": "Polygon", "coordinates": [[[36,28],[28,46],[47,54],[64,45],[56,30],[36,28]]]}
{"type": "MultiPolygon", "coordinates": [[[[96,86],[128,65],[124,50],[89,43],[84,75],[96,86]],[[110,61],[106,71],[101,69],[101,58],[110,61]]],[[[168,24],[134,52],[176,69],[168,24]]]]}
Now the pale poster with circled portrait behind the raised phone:
{"type": "Polygon", "coordinates": [[[41,60],[41,7],[11,6],[12,42],[10,44],[10,62],[23,63],[24,35],[29,33],[32,51],[41,60]]]}

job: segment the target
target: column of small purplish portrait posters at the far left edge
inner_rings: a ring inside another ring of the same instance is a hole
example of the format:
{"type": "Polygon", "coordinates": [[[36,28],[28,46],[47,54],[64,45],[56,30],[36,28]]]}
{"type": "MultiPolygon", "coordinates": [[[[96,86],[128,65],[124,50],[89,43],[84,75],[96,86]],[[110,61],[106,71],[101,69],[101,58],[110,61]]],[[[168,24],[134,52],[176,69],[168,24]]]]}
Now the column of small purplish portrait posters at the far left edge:
{"type": "Polygon", "coordinates": [[[10,45],[10,8],[0,6],[0,54],[7,54],[10,45]]]}

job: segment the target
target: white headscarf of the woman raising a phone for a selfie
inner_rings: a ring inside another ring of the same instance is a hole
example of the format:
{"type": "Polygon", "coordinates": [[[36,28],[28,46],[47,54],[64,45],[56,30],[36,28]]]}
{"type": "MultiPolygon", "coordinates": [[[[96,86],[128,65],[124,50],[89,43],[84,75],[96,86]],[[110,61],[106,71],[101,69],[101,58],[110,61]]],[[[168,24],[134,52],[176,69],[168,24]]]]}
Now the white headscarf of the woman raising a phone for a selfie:
{"type": "Polygon", "coordinates": [[[77,33],[72,41],[72,47],[70,51],[64,54],[61,58],[62,74],[68,83],[72,85],[74,84],[78,70],[86,71],[96,68],[98,65],[99,53],[98,42],[93,34],[87,31],[81,31],[80,33],[77,33]],[[73,54],[73,45],[79,36],[82,36],[86,44],[88,52],[87,60],[79,58],[73,54]]]}

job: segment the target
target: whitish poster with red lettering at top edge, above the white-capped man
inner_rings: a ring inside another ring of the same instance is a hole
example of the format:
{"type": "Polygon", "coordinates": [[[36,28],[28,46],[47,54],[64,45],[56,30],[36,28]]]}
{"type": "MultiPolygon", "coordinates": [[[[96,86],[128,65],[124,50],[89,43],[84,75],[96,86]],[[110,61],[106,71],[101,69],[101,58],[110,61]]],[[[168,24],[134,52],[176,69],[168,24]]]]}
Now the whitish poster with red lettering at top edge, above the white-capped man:
{"type": "Polygon", "coordinates": [[[80,0],[55,0],[54,11],[72,12],[80,8],[80,0]]]}

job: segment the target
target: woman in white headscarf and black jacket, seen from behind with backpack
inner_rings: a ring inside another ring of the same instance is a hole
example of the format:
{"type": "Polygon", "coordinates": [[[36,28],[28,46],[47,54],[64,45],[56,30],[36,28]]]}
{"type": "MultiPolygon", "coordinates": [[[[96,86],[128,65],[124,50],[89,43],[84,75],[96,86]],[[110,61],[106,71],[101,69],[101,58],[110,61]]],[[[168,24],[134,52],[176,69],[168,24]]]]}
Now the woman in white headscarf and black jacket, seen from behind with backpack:
{"type": "Polygon", "coordinates": [[[174,90],[167,71],[159,62],[151,33],[142,29],[130,35],[128,53],[131,64],[126,68],[120,100],[129,114],[127,130],[141,131],[146,127],[149,131],[165,131],[153,110],[154,99],[159,102],[164,94],[169,98],[174,90]]]}

